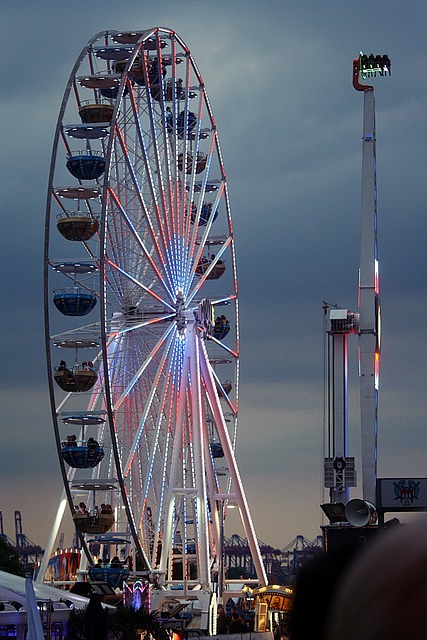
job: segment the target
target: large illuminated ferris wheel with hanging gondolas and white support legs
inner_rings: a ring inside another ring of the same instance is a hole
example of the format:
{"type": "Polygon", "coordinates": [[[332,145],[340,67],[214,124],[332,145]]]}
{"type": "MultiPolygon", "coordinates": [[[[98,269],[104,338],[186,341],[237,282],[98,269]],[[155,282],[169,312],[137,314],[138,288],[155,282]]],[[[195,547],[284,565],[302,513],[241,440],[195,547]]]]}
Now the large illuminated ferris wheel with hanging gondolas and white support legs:
{"type": "Polygon", "coordinates": [[[64,481],[46,554],[68,504],[89,567],[114,549],[162,589],[211,585],[233,503],[266,584],[234,457],[226,175],[202,76],[170,29],[99,33],[74,65],[49,176],[45,326],[64,481]]]}

